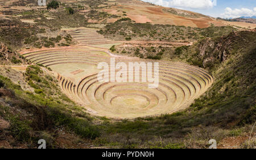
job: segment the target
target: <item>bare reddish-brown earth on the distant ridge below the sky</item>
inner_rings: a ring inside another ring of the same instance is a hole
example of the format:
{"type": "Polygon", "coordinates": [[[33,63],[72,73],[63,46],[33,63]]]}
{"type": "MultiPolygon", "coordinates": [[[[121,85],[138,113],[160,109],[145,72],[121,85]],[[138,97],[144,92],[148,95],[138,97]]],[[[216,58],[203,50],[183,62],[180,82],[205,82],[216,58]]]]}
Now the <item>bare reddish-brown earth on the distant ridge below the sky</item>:
{"type": "MultiPolygon", "coordinates": [[[[116,14],[122,16],[123,12],[126,12],[125,17],[130,18],[131,20],[136,21],[137,23],[146,23],[150,22],[152,24],[170,24],[170,25],[184,25],[186,27],[199,27],[207,28],[211,24],[215,26],[225,26],[225,25],[236,25],[238,27],[256,27],[255,24],[250,23],[234,23],[229,24],[223,20],[217,20],[209,16],[204,16],[197,14],[196,12],[177,10],[179,13],[183,13],[188,16],[181,16],[179,14],[173,14],[167,12],[166,10],[170,9],[168,7],[150,5],[150,3],[145,3],[142,1],[123,1],[117,0],[117,5],[112,6],[108,9],[102,9],[101,11],[108,12],[109,14],[116,14]],[[191,17],[189,17],[191,16],[191,17]]],[[[254,28],[255,28],[254,27],[254,28]]]]}

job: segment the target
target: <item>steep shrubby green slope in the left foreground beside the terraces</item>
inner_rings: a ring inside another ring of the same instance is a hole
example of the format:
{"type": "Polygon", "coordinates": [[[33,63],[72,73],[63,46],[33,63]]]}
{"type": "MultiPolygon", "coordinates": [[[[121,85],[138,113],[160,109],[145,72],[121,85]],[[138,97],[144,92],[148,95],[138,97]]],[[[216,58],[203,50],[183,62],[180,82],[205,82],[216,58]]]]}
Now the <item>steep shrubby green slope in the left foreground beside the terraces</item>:
{"type": "Polygon", "coordinates": [[[100,135],[92,117],[61,93],[51,71],[36,65],[0,71],[0,148],[37,148],[39,139],[47,148],[89,148],[89,139],[100,135]]]}

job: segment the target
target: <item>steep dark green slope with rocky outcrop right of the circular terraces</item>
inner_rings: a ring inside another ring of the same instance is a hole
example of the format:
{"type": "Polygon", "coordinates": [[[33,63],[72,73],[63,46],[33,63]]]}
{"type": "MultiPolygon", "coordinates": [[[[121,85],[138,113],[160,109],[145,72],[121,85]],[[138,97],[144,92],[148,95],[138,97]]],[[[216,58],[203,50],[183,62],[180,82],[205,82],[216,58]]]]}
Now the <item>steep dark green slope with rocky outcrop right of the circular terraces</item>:
{"type": "Polygon", "coordinates": [[[207,95],[192,105],[194,110],[206,111],[209,119],[211,115],[212,118],[217,116],[214,123],[232,126],[255,122],[255,37],[255,31],[234,32],[201,41],[185,51],[212,71],[216,80],[207,95]],[[196,47],[194,51],[193,47],[196,47]]]}

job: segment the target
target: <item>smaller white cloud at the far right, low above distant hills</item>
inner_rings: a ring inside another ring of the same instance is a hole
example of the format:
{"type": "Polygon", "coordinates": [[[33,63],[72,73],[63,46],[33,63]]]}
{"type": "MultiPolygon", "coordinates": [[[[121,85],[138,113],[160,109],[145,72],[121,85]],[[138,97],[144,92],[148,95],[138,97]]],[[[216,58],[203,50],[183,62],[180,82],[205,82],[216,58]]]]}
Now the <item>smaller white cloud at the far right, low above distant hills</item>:
{"type": "Polygon", "coordinates": [[[253,10],[248,8],[234,9],[226,7],[225,12],[221,14],[221,18],[240,18],[241,16],[256,16],[256,7],[253,10]]]}

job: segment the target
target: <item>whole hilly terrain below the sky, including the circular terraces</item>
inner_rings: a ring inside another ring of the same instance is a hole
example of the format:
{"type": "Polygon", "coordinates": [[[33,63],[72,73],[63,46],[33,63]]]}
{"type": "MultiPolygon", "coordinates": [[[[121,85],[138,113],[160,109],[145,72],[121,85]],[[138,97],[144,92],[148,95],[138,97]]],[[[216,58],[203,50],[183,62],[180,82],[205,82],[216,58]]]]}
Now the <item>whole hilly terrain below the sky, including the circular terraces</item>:
{"type": "Polygon", "coordinates": [[[0,2],[0,148],[255,149],[255,24],[135,0],[55,5],[0,2]],[[158,62],[159,87],[101,82],[113,58],[158,62]]]}

